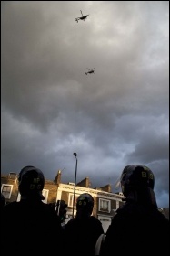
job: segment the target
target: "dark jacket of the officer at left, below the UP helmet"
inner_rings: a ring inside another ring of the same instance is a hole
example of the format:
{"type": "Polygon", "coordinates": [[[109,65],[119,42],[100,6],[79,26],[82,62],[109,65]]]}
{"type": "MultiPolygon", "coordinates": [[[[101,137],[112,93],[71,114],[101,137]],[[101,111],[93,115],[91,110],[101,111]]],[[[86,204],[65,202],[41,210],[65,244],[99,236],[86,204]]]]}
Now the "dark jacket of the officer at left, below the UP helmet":
{"type": "Polygon", "coordinates": [[[63,229],[42,201],[21,200],[1,211],[1,255],[62,255],[63,229]]]}

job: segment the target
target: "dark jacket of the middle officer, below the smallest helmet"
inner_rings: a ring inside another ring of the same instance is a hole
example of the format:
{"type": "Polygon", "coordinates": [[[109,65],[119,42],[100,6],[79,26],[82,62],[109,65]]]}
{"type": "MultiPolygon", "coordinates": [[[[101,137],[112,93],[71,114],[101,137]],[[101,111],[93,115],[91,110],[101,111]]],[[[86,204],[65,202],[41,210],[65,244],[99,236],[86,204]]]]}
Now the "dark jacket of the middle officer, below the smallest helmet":
{"type": "Polygon", "coordinates": [[[71,219],[65,225],[65,255],[95,255],[95,243],[104,233],[99,219],[71,219]]]}

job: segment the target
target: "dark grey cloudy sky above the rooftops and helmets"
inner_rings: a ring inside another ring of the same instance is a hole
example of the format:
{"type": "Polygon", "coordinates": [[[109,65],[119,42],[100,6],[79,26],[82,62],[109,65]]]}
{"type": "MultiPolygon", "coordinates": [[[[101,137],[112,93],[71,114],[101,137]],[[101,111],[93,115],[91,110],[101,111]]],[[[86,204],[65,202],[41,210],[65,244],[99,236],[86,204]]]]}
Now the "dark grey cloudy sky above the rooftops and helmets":
{"type": "Polygon", "coordinates": [[[168,31],[169,1],[2,1],[1,172],[74,182],[76,152],[77,182],[115,191],[144,164],[169,207],[168,31]]]}

